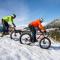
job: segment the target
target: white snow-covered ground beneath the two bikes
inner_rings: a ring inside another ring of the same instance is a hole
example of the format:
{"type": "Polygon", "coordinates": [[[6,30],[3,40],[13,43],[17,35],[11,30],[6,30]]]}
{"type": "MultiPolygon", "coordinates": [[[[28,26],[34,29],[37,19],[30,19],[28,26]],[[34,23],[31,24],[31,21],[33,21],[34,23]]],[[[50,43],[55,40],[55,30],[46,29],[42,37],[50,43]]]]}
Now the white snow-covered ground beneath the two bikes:
{"type": "Polygon", "coordinates": [[[52,43],[49,49],[39,45],[22,45],[9,36],[0,38],[0,60],[60,60],[60,43],[52,43]]]}

